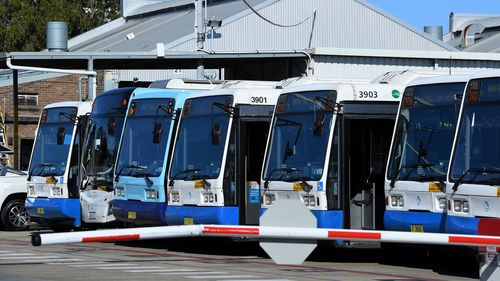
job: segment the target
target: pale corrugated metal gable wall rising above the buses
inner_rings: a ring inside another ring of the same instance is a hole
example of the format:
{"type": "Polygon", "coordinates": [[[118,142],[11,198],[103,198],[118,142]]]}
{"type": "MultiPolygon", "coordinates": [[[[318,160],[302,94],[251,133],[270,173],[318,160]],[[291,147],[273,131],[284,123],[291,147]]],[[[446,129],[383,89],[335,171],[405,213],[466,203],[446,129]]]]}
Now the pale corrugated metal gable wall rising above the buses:
{"type": "MultiPolygon", "coordinates": [[[[261,6],[265,6],[265,3],[261,6]]],[[[259,7],[257,5],[256,7],[259,7]]],[[[259,10],[276,23],[298,23],[316,11],[304,23],[283,28],[271,25],[250,13],[232,22],[223,21],[217,29],[219,38],[208,39],[206,49],[215,51],[290,50],[313,47],[366,48],[443,51],[446,48],[422,33],[393,20],[356,0],[281,0],[259,10]]],[[[189,51],[194,41],[170,46],[172,50],[189,51]]]]}

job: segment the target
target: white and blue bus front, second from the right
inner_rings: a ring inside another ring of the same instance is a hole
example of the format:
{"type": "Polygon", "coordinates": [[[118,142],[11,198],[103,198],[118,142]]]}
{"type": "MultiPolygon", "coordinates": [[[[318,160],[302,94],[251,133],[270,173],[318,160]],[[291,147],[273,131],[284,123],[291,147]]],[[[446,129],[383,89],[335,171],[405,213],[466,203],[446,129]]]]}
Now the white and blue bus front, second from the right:
{"type": "Polygon", "coordinates": [[[421,78],[406,87],[385,179],[386,230],[445,231],[446,174],[468,78],[421,78]]]}

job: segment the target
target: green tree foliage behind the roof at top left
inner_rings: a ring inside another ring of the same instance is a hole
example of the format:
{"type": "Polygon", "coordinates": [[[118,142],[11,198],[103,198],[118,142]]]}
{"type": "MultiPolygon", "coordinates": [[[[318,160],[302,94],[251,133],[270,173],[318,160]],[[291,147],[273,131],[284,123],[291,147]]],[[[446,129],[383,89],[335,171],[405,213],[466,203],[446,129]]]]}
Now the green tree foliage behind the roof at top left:
{"type": "Polygon", "coordinates": [[[77,36],[119,16],[120,0],[0,0],[0,51],[45,49],[48,21],[68,23],[77,36]]]}

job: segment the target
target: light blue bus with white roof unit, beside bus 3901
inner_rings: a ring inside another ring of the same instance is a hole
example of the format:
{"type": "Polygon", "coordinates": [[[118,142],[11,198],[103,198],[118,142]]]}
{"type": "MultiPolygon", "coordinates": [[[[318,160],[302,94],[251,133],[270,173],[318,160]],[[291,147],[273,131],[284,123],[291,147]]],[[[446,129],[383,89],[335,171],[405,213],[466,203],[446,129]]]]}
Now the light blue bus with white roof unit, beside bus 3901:
{"type": "Polygon", "coordinates": [[[180,110],[193,93],[215,87],[180,79],[151,86],[157,89],[137,89],[131,98],[115,168],[113,214],[136,225],[166,224],[165,177],[180,110]]]}

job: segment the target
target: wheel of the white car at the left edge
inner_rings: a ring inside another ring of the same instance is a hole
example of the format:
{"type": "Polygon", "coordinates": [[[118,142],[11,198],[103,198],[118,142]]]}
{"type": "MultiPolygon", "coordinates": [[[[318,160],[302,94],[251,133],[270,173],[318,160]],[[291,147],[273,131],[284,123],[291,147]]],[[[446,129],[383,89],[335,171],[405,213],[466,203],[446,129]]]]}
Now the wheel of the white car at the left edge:
{"type": "Polygon", "coordinates": [[[9,201],[2,210],[1,219],[7,230],[28,229],[30,216],[24,207],[24,200],[14,199],[9,201]]]}

